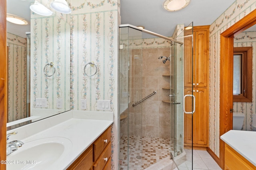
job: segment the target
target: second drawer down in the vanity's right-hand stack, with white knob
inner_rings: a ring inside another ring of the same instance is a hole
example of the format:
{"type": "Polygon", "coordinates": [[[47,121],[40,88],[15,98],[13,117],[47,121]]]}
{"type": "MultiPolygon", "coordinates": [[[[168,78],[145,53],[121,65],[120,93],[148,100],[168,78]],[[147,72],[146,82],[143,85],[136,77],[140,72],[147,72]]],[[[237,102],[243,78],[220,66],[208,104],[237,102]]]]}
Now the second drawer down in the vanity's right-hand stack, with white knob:
{"type": "Polygon", "coordinates": [[[107,164],[111,156],[111,142],[108,143],[107,147],[103,150],[100,157],[94,162],[93,169],[94,170],[102,170],[104,166],[107,164]]]}

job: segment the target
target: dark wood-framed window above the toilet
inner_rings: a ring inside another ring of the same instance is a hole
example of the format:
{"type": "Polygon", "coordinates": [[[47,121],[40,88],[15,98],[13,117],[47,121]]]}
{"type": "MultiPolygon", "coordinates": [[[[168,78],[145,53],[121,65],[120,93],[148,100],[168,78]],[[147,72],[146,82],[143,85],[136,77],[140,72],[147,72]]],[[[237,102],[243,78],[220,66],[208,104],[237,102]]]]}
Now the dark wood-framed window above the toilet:
{"type": "Polygon", "coordinates": [[[233,102],[252,102],[252,47],[234,47],[233,102]]]}

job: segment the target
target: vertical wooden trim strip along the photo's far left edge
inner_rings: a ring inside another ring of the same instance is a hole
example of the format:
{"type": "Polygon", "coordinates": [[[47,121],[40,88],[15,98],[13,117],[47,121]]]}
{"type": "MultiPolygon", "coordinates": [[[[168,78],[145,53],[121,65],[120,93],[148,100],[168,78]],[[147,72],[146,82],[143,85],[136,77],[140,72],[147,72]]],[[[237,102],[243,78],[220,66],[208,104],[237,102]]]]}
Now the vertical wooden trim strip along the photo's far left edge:
{"type": "MultiPolygon", "coordinates": [[[[0,0],[0,160],[6,160],[7,122],[6,0],[0,0]]],[[[0,164],[5,170],[6,165],[0,164]]]]}

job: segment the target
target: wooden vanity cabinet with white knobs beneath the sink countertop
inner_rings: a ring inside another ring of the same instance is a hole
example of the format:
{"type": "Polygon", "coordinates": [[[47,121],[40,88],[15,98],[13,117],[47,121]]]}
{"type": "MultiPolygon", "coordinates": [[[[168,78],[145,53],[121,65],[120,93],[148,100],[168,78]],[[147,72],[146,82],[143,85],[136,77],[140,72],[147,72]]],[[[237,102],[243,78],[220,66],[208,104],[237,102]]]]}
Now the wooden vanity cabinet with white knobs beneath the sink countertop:
{"type": "Polygon", "coordinates": [[[67,170],[111,170],[111,126],[67,170]]]}

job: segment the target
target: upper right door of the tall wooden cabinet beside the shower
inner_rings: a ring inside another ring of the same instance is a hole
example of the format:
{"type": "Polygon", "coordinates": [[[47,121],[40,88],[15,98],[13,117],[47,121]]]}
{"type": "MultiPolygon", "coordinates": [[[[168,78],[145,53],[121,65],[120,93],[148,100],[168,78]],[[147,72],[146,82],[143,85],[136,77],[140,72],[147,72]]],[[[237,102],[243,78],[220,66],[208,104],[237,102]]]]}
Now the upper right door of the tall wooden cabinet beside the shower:
{"type": "Polygon", "coordinates": [[[207,87],[209,72],[209,31],[194,32],[195,87],[207,87]]]}

